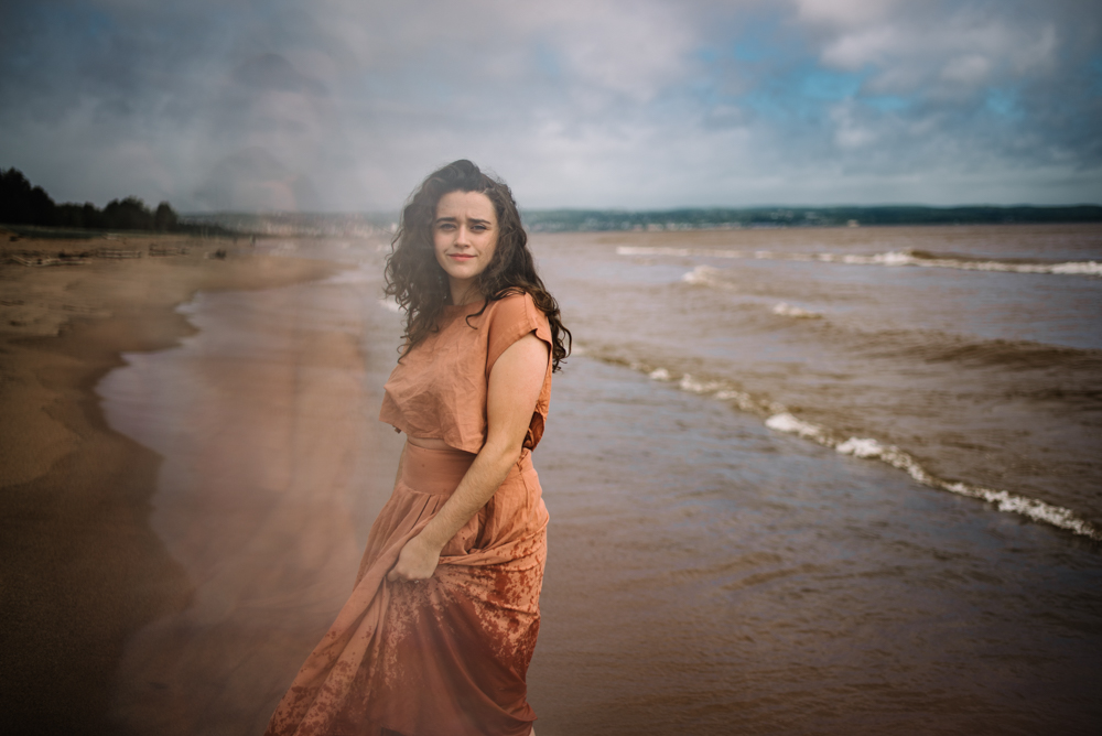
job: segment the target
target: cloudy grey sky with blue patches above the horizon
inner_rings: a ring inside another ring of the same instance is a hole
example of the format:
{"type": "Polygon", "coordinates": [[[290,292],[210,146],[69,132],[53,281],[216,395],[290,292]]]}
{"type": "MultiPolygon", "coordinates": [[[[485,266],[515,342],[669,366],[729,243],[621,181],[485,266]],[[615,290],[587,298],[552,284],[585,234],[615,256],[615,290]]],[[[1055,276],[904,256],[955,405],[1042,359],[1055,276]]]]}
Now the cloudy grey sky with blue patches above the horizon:
{"type": "Polygon", "coordinates": [[[0,167],[58,201],[1102,204],[1096,0],[4,0],[0,167]]]}

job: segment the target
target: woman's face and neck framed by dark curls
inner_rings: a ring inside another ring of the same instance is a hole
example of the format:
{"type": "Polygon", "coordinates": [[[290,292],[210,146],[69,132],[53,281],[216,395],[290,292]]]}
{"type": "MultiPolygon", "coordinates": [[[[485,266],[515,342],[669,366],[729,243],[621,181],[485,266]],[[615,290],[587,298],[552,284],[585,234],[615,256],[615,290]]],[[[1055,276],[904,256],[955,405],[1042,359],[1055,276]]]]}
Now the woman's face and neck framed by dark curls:
{"type": "Polygon", "coordinates": [[[497,248],[497,212],[482,192],[449,192],[436,204],[432,242],[436,262],[447,273],[452,303],[480,297],[474,279],[486,270],[497,248]]]}

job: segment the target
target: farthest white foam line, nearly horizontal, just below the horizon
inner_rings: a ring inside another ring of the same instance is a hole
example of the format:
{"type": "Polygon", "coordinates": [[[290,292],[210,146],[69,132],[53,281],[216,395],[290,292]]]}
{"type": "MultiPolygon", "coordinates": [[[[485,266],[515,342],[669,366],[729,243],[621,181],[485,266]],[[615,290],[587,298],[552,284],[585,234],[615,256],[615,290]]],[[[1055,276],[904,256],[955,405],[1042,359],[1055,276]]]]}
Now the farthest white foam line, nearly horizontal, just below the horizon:
{"type": "MultiPolygon", "coordinates": [[[[746,253],[742,250],[714,248],[667,248],[658,246],[619,246],[617,256],[677,256],[680,258],[755,258],[775,261],[819,261],[822,263],[845,263],[849,266],[916,266],[919,268],[958,269],[961,271],[997,271],[1002,273],[1050,273],[1058,275],[1102,277],[1102,262],[1068,261],[1065,263],[1004,263],[1001,261],[966,261],[950,258],[918,258],[905,251],[890,251],[858,256],[853,253],[776,253],[768,250],[756,250],[746,253]]],[[[683,279],[696,283],[691,279],[683,279]]]]}

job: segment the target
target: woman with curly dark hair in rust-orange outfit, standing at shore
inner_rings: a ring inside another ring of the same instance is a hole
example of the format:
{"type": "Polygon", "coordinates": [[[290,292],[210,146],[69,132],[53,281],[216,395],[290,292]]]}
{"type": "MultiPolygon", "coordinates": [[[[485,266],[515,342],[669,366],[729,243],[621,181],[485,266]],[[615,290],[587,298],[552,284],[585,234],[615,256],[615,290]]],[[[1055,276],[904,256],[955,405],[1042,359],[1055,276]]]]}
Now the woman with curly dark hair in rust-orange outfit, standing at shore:
{"type": "Polygon", "coordinates": [[[570,332],[509,187],[469,161],[402,213],[406,344],[380,419],[407,444],[352,597],[268,734],[528,736],[547,509],[531,451],[570,332]]]}

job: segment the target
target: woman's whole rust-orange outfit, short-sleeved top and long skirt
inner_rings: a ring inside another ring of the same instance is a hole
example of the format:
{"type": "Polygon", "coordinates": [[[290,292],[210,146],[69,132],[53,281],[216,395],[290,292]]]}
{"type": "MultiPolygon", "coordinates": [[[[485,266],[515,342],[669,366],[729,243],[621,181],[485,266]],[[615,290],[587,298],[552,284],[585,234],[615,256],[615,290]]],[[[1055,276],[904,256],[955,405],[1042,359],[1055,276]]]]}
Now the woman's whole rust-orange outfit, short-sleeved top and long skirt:
{"type": "Polygon", "coordinates": [[[485,507],[444,546],[433,576],[389,583],[406,542],[444,505],[486,439],[497,358],[547,317],[528,294],[447,306],[404,356],[380,419],[456,450],[407,443],[393,495],[371,527],[352,597],[283,696],[269,735],[527,736],[525,678],[540,627],[548,513],[531,450],[543,434],[551,364],[525,450],[485,507]]]}

